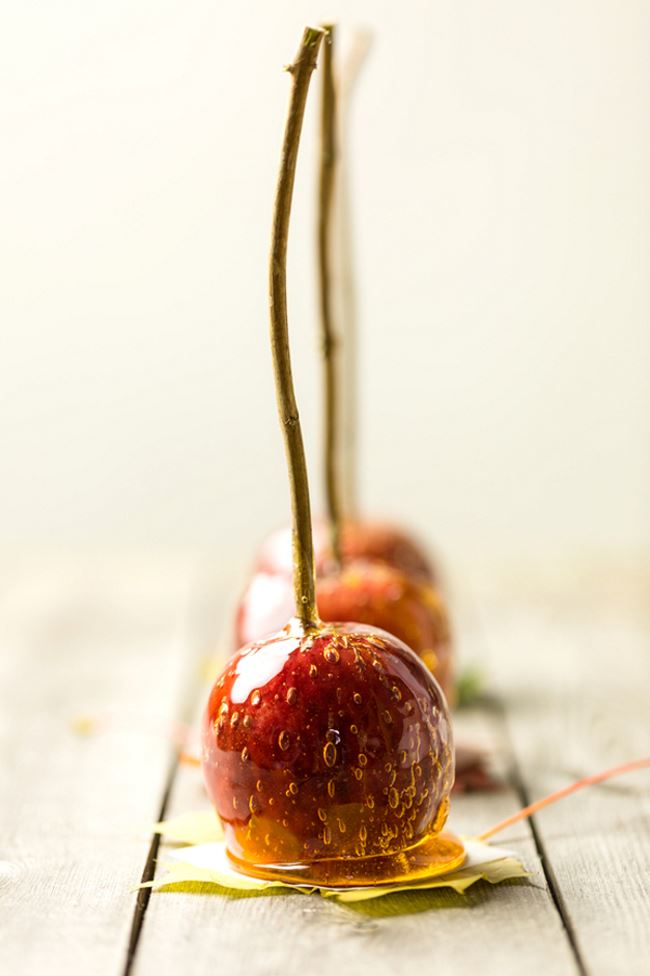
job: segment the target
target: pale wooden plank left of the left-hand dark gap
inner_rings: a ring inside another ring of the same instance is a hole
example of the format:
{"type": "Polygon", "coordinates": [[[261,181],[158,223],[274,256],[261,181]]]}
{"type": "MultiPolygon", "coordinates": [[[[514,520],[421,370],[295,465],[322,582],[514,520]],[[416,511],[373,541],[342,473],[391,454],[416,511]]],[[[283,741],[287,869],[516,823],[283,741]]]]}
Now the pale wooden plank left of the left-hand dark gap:
{"type": "Polygon", "coordinates": [[[171,761],[191,575],[173,559],[23,566],[0,603],[0,971],[124,967],[171,761]],[[103,718],[94,734],[79,715],[103,718]]]}

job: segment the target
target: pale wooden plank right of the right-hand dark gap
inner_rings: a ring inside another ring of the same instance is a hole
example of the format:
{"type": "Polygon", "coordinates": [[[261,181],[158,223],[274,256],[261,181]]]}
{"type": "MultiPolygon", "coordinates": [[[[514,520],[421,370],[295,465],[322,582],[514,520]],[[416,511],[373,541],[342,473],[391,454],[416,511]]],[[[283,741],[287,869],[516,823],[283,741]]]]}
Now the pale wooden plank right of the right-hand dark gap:
{"type": "MultiPolygon", "coordinates": [[[[573,599],[547,581],[535,600],[484,614],[531,800],[650,755],[647,576],[617,567],[579,582],[573,599]]],[[[650,772],[591,787],[535,823],[586,971],[647,973],[650,772]]]]}

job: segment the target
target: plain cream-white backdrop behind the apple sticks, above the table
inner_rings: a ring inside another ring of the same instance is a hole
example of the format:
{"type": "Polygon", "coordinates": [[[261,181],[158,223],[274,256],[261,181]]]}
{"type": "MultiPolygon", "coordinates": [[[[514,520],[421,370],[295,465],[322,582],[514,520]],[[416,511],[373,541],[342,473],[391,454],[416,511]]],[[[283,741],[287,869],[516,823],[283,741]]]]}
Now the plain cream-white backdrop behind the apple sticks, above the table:
{"type": "MultiPolygon", "coordinates": [[[[456,566],[650,544],[650,5],[4,5],[0,540],[239,570],[287,510],[266,255],[302,26],[353,104],[362,497],[456,566]],[[347,33],[346,33],[347,32],[347,33]]],[[[314,102],[290,244],[320,503],[314,102]]]]}

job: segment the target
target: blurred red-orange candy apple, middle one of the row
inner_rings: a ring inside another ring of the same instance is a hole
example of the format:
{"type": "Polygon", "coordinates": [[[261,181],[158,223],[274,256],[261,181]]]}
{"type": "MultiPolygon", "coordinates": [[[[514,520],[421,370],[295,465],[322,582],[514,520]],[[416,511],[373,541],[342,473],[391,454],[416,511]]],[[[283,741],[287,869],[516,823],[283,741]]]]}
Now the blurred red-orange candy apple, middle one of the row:
{"type": "MultiPolygon", "coordinates": [[[[439,592],[383,563],[352,562],[316,583],[318,611],[325,621],[356,621],[394,634],[422,658],[454,701],[453,649],[449,619],[439,592]]],[[[237,607],[235,646],[263,640],[293,610],[291,579],[256,573],[237,607]]]]}

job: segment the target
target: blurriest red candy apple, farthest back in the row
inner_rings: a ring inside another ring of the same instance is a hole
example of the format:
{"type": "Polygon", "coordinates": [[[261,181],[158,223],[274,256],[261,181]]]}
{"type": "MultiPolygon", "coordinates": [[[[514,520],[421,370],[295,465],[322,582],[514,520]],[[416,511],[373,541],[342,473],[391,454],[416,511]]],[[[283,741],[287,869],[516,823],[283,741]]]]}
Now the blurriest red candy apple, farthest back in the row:
{"type": "MultiPolygon", "coordinates": [[[[316,572],[327,572],[332,562],[327,523],[314,521],[313,533],[316,572]]],[[[341,554],[343,563],[367,559],[386,563],[415,579],[434,581],[433,567],[426,553],[407,532],[387,522],[345,521],[341,531],[341,554]]],[[[262,544],[254,571],[290,576],[292,566],[291,529],[283,526],[262,544]]]]}

